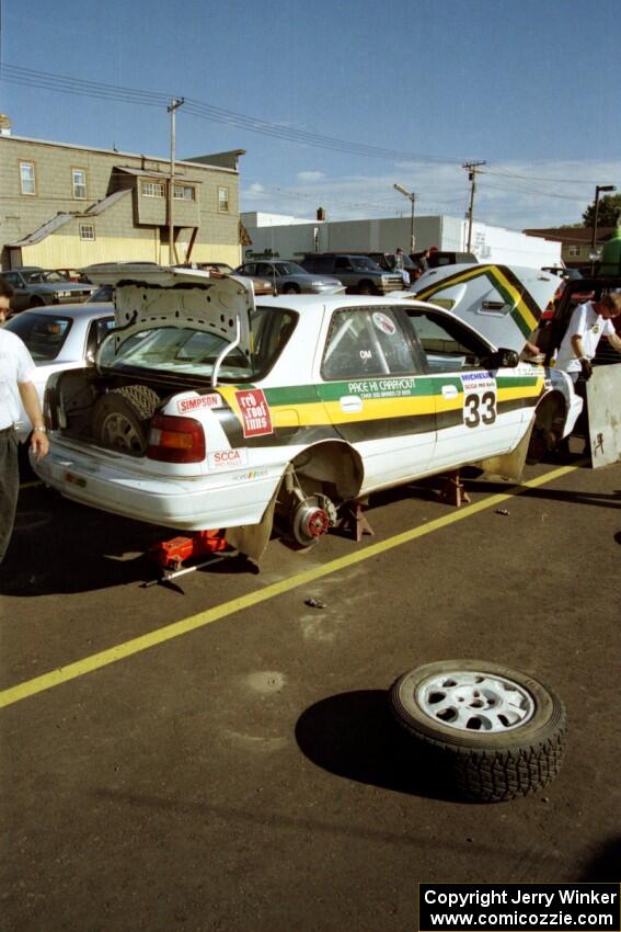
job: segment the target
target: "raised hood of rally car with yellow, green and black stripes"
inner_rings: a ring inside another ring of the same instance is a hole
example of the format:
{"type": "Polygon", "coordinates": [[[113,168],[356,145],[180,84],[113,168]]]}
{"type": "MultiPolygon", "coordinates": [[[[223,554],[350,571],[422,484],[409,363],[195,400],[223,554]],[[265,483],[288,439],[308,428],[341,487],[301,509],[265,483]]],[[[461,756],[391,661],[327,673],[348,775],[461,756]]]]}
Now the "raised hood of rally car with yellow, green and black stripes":
{"type": "Polygon", "coordinates": [[[540,269],[446,265],[415,285],[416,298],[444,307],[496,349],[520,353],[561,280],[540,269]]]}

